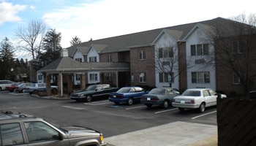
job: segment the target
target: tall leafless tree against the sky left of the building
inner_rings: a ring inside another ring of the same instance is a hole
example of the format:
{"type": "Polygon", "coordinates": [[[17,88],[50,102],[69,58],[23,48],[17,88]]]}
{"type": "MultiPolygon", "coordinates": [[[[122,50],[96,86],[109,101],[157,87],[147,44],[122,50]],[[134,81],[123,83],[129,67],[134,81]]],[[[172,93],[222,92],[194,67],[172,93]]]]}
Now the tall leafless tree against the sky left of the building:
{"type": "Polygon", "coordinates": [[[35,59],[42,47],[42,39],[48,26],[42,20],[31,20],[28,26],[20,26],[15,31],[15,36],[18,37],[20,48],[28,51],[32,58],[35,59]]]}

